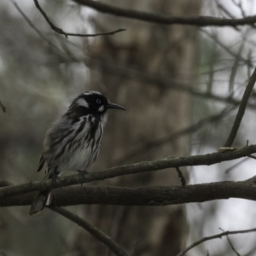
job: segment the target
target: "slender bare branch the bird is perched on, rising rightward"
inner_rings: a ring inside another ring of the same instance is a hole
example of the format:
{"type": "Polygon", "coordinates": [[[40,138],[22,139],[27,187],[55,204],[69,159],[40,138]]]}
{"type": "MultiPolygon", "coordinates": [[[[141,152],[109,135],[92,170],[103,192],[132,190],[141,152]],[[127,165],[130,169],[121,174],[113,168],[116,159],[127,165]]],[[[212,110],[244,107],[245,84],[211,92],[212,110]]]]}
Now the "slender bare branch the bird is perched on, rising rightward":
{"type": "Polygon", "coordinates": [[[163,160],[143,161],[137,164],[108,168],[100,172],[89,172],[86,173],[84,177],[79,174],[67,176],[61,178],[55,183],[48,180],[0,188],[0,199],[7,198],[11,195],[22,195],[33,191],[43,191],[66,187],[73,184],[90,183],[96,180],[103,180],[106,178],[119,177],[140,172],[153,172],[181,166],[211,166],[223,161],[240,159],[241,157],[245,157],[253,153],[256,153],[256,145],[250,145],[241,149],[232,151],[229,150],[226,152],[216,152],[212,154],[199,154],[188,157],[170,157],[163,160]]]}

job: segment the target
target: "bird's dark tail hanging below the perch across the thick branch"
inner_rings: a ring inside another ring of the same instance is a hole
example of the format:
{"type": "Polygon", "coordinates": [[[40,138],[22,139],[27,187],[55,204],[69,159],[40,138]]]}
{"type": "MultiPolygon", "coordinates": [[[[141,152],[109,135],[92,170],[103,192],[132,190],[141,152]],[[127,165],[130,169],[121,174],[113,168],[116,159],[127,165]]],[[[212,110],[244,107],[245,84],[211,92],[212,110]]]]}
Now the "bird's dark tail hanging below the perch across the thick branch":
{"type": "MultiPolygon", "coordinates": [[[[48,173],[46,173],[44,176],[44,180],[46,179],[49,179],[48,173]]],[[[51,200],[52,200],[51,190],[44,190],[44,191],[37,192],[37,194],[35,195],[32,201],[32,206],[30,207],[29,215],[32,216],[34,214],[41,212],[45,206],[49,206],[51,200]]]]}

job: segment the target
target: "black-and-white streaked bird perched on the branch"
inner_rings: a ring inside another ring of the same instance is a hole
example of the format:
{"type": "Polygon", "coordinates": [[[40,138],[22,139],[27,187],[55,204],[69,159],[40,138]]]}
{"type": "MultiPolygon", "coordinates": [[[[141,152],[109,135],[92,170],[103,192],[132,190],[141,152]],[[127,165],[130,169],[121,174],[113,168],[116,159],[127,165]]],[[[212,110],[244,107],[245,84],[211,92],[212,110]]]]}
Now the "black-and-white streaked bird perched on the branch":
{"type": "MultiPolygon", "coordinates": [[[[99,154],[109,108],[126,110],[109,102],[101,92],[93,90],[73,100],[67,112],[45,134],[38,166],[38,172],[46,166],[44,180],[51,179],[54,182],[64,171],[87,172],[99,154]]],[[[51,200],[51,190],[38,191],[29,215],[41,212],[51,200]]]]}

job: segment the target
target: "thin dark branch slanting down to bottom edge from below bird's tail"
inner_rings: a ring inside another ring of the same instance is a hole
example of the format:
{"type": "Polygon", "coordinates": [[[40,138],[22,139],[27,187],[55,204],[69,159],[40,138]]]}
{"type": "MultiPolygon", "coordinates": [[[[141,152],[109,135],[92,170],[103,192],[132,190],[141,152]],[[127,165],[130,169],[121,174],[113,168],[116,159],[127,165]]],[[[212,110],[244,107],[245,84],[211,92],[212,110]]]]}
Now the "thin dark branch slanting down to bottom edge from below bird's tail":
{"type": "Polygon", "coordinates": [[[125,252],[125,250],[119,246],[118,243],[113,241],[109,236],[104,234],[101,230],[98,230],[96,227],[85,221],[83,218],[79,218],[78,215],[73,214],[73,212],[68,212],[66,209],[60,208],[60,207],[49,207],[51,210],[58,212],[62,216],[70,219],[75,224],[78,224],[80,227],[82,227],[84,230],[88,231],[91,236],[96,237],[97,240],[102,241],[103,244],[105,244],[109,250],[111,250],[113,253],[115,253],[118,256],[129,256],[128,253],[125,252]]]}

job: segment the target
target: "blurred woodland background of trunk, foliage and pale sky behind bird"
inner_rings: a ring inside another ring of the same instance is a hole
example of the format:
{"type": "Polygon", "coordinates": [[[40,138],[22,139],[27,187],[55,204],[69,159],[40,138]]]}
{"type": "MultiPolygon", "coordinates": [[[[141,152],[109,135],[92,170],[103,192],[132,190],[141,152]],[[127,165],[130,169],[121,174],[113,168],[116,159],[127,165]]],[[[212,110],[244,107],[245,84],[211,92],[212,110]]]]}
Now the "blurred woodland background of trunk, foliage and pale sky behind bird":
{"type": "MultiPolygon", "coordinates": [[[[0,178],[41,180],[44,133],[75,96],[99,90],[127,108],[109,112],[102,147],[91,172],[166,156],[207,154],[229,135],[255,65],[254,26],[163,26],[103,15],[72,1],[39,2],[55,26],[112,36],[68,37],[52,31],[32,0],[0,3],[0,178]]],[[[152,13],[241,18],[253,0],[114,1],[152,13]]],[[[255,90],[234,147],[255,143],[255,90]]],[[[189,183],[238,181],[255,175],[252,159],[183,170],[189,183]]],[[[68,175],[68,174],[65,174],[68,175]]],[[[87,185],[180,185],[175,170],[118,177],[87,185]]],[[[103,230],[132,255],[175,255],[221,230],[254,228],[256,207],[230,199],[172,207],[67,207],[103,230]]],[[[112,255],[76,224],[45,209],[0,210],[0,254],[112,255]]],[[[188,255],[256,255],[255,234],[207,241],[188,255]],[[233,245],[234,248],[232,248],[233,245]],[[207,253],[208,252],[208,253],[207,253]],[[238,254],[237,254],[238,253],[238,254]]]]}

